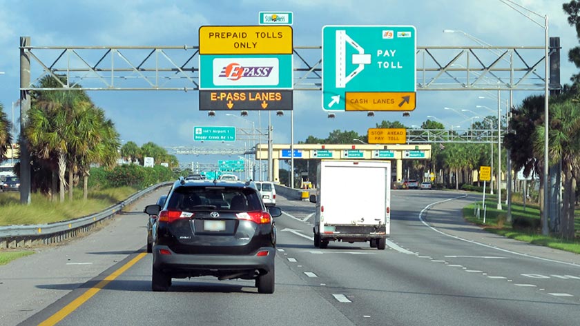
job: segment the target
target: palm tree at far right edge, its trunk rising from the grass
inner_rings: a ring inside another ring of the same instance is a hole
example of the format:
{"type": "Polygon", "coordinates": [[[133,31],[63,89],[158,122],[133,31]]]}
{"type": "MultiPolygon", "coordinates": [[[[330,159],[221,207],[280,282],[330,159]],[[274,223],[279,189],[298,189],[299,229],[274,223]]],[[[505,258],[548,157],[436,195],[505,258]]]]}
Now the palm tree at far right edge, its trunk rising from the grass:
{"type": "MultiPolygon", "coordinates": [[[[550,164],[561,161],[563,174],[563,201],[561,208],[561,234],[568,240],[574,239],[574,203],[576,201],[576,174],[580,167],[580,107],[573,101],[556,103],[550,108],[550,133],[548,155],[550,164]]],[[[534,152],[543,160],[545,141],[544,128],[534,134],[534,152]]]]}

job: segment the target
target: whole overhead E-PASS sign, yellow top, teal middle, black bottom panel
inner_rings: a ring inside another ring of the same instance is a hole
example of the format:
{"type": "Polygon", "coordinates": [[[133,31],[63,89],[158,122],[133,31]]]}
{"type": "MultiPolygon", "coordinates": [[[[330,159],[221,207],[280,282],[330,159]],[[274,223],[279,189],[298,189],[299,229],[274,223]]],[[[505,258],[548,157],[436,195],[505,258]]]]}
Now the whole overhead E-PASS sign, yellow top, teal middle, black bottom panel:
{"type": "Polygon", "coordinates": [[[200,110],[292,110],[291,26],[200,27],[200,110]]]}

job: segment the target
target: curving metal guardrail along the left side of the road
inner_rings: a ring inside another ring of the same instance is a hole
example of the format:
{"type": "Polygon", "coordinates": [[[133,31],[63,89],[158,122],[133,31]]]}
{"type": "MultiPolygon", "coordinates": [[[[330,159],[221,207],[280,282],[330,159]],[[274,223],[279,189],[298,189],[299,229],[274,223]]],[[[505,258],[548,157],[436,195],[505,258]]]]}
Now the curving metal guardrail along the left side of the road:
{"type": "Polygon", "coordinates": [[[157,190],[157,188],[171,185],[173,181],[157,183],[140,192],[137,192],[124,201],[107,207],[97,214],[75,218],[69,221],[37,225],[10,225],[0,227],[0,249],[32,247],[33,245],[48,245],[73,238],[80,233],[92,230],[94,227],[112,218],[123,207],[130,205],[141,196],[157,190]]]}

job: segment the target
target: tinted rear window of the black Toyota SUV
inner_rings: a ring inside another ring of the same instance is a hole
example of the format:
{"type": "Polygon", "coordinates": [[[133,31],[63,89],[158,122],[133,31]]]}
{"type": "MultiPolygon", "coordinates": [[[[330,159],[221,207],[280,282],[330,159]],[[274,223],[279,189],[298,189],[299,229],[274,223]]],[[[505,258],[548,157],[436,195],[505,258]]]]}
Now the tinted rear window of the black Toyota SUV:
{"type": "Polygon", "coordinates": [[[249,212],[262,210],[262,198],[254,190],[242,187],[178,187],[171,194],[167,209],[249,212]]]}

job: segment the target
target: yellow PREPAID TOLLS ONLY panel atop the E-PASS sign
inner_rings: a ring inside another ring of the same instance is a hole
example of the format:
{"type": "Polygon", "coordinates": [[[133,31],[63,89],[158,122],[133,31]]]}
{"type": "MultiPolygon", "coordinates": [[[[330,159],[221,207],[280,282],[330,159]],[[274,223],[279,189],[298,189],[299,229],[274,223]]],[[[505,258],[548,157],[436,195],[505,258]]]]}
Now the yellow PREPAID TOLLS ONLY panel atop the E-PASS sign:
{"type": "Polygon", "coordinates": [[[200,54],[292,54],[291,26],[202,26],[200,54]]]}

